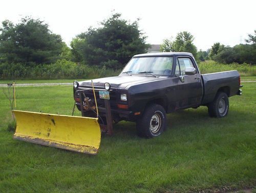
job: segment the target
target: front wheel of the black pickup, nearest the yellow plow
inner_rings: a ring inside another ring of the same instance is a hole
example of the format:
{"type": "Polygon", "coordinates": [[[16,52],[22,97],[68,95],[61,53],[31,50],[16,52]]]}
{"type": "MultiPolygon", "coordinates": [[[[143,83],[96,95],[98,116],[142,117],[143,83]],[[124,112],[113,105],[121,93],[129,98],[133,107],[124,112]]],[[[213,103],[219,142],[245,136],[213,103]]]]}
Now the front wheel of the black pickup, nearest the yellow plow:
{"type": "Polygon", "coordinates": [[[136,124],[138,135],[152,138],[161,135],[166,127],[166,113],[159,104],[150,104],[136,124]]]}

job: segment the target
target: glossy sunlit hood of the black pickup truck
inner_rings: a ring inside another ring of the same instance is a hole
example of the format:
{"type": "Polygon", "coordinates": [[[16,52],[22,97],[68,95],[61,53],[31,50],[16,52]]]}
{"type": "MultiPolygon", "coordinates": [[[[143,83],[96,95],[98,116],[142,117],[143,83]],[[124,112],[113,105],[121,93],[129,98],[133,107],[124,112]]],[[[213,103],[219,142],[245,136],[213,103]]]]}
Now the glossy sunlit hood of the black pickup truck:
{"type": "MultiPolygon", "coordinates": [[[[167,78],[167,76],[159,76],[159,77],[154,77],[151,75],[119,75],[119,76],[112,76],[112,77],[106,77],[106,78],[98,78],[98,79],[93,79],[93,84],[96,87],[104,87],[105,82],[109,82],[111,84],[112,88],[121,88],[125,89],[129,85],[134,85],[134,84],[140,84],[148,81],[154,81],[154,80],[159,80],[167,78]]],[[[79,85],[81,86],[91,86],[92,82],[91,80],[86,80],[86,81],[80,81],[79,85]]]]}

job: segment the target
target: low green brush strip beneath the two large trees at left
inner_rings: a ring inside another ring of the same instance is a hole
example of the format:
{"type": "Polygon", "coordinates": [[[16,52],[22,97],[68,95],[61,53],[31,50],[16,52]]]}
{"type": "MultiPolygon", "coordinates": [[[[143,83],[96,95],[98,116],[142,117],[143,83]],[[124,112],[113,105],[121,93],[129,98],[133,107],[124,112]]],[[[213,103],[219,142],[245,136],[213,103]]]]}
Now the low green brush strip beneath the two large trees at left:
{"type": "Polygon", "coordinates": [[[118,75],[121,70],[81,65],[59,59],[50,65],[24,66],[21,63],[0,63],[0,79],[92,79],[118,75]]]}

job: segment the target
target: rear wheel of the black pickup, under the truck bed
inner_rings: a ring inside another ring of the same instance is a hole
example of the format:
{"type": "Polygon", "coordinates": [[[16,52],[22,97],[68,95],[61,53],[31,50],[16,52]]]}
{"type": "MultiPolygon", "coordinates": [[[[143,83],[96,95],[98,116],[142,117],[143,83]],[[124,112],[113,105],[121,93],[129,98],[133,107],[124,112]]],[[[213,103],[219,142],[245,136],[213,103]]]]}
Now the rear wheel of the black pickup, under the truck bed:
{"type": "Polygon", "coordinates": [[[229,101],[226,93],[218,92],[214,101],[208,105],[210,117],[225,117],[228,114],[229,101]]]}

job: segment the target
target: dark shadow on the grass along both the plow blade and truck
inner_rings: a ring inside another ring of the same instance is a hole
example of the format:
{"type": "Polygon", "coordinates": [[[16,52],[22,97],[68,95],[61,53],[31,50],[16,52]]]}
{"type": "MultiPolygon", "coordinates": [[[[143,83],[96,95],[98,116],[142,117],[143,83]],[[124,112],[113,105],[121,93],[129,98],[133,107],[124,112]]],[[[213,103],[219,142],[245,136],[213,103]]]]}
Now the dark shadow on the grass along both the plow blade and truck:
{"type": "MultiPolygon", "coordinates": [[[[166,131],[164,131],[161,136],[149,140],[137,136],[136,123],[121,121],[118,124],[114,124],[113,136],[102,135],[99,152],[102,153],[106,151],[110,153],[113,152],[115,148],[125,148],[125,146],[129,147],[134,144],[140,144],[142,146],[158,144],[159,148],[161,148],[161,144],[171,145],[171,143],[182,143],[182,141],[191,142],[194,140],[205,140],[209,135],[220,135],[220,132],[225,136],[228,135],[230,131],[233,131],[233,125],[243,123],[245,117],[249,121],[250,116],[251,120],[253,120],[253,115],[250,113],[231,111],[227,117],[211,118],[208,116],[207,108],[204,106],[198,109],[177,111],[167,115],[166,131]]],[[[248,124],[250,125],[250,123],[248,124]]],[[[48,154],[50,152],[52,152],[52,154],[62,154],[64,152],[65,154],[69,154],[69,151],[53,147],[41,148],[42,146],[40,145],[14,140],[12,143],[20,149],[30,149],[29,151],[34,153],[43,150],[48,152],[48,154]]],[[[71,154],[80,155],[76,152],[72,152],[71,154]]]]}

